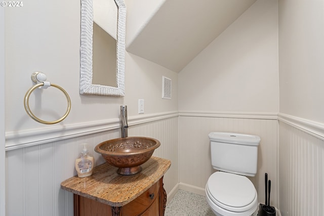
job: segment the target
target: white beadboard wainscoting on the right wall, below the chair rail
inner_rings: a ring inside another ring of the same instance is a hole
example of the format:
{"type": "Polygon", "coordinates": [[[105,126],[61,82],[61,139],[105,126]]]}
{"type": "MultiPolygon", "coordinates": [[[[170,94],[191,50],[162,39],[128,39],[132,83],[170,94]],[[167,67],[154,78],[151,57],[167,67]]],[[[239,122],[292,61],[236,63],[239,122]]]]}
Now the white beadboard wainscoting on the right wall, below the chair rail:
{"type": "Polygon", "coordinates": [[[324,140],[279,121],[279,208],[283,216],[323,215],[324,140]]]}

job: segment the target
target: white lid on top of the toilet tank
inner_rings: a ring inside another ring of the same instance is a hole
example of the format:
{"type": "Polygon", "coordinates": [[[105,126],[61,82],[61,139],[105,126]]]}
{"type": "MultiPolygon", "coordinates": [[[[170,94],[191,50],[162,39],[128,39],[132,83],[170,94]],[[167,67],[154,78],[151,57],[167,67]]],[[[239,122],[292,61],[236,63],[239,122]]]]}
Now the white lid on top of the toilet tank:
{"type": "Polygon", "coordinates": [[[211,141],[245,145],[259,145],[261,140],[256,135],[228,132],[211,132],[208,136],[211,141]]]}

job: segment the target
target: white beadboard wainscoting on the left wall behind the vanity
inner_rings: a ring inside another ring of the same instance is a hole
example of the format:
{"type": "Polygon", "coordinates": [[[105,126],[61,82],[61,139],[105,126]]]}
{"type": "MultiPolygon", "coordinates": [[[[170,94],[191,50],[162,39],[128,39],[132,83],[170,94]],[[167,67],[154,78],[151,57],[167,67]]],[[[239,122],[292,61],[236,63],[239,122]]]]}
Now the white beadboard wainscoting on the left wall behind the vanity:
{"type": "MultiPolygon", "coordinates": [[[[178,116],[132,125],[130,136],[154,137],[161,146],[155,156],[168,158],[172,165],[164,178],[167,193],[179,182],[178,116]]],[[[60,188],[65,179],[76,175],[75,159],[87,142],[95,164],[104,162],[95,146],[120,137],[120,129],[88,134],[6,152],[8,216],[73,215],[73,194],[60,188]]],[[[169,194],[168,194],[169,195],[169,194]]]]}

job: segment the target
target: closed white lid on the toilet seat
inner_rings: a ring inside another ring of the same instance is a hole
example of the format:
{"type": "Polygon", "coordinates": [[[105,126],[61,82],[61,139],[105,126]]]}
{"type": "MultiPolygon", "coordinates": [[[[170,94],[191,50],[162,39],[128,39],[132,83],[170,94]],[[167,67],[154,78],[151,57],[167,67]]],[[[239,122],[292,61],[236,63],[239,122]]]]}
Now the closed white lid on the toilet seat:
{"type": "Polygon", "coordinates": [[[210,176],[207,187],[215,200],[234,208],[251,204],[257,195],[254,185],[247,177],[223,171],[210,176]]]}

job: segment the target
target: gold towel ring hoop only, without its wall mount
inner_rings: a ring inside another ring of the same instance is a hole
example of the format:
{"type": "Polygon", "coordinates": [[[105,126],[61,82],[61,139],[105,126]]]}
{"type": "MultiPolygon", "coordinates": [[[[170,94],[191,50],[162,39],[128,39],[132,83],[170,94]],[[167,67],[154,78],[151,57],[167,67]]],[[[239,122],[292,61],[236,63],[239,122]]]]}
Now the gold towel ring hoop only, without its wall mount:
{"type": "Polygon", "coordinates": [[[35,84],[33,87],[31,87],[31,88],[27,91],[27,93],[26,93],[26,95],[25,95],[25,98],[24,98],[25,110],[26,110],[27,114],[28,114],[32,119],[34,119],[35,121],[38,121],[39,123],[43,123],[43,124],[55,124],[55,123],[58,123],[58,122],[62,121],[62,120],[63,120],[64,118],[66,118],[66,116],[69,114],[69,112],[70,112],[70,110],[71,110],[71,99],[70,99],[69,95],[67,94],[67,92],[66,92],[62,87],[60,87],[60,86],[57,85],[57,84],[53,84],[53,83],[51,83],[50,86],[55,87],[55,88],[61,90],[61,91],[64,93],[64,95],[65,95],[65,97],[66,97],[66,100],[67,100],[67,109],[66,109],[66,112],[65,112],[65,114],[64,114],[60,119],[57,119],[57,120],[55,120],[55,121],[44,121],[44,120],[42,120],[42,119],[37,118],[37,117],[36,117],[36,116],[31,112],[31,110],[30,110],[30,108],[29,108],[29,96],[30,96],[30,94],[31,94],[35,89],[37,89],[38,87],[42,87],[42,86],[44,86],[44,84],[45,84],[44,82],[42,82],[42,83],[38,83],[38,84],[35,84]]]}

